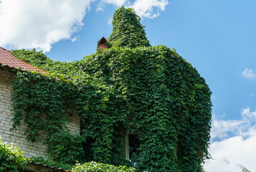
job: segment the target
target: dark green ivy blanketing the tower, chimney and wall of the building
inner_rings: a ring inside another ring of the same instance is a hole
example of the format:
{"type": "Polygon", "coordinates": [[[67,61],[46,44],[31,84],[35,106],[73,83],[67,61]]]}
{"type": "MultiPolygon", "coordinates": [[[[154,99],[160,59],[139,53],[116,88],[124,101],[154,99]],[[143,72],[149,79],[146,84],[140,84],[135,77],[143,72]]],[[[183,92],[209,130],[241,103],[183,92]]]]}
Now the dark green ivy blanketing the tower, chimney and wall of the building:
{"type": "Polygon", "coordinates": [[[50,73],[17,73],[14,129],[24,118],[29,140],[47,132],[49,153],[65,163],[202,171],[204,158],[209,158],[212,107],[204,78],[175,50],[150,47],[131,9],[115,12],[110,44],[70,63],[53,62],[34,50],[14,50],[14,56],[50,73]],[[74,111],[81,118],[80,135],[65,127],[74,111]],[[139,138],[132,163],[124,157],[125,131],[139,138]]]}

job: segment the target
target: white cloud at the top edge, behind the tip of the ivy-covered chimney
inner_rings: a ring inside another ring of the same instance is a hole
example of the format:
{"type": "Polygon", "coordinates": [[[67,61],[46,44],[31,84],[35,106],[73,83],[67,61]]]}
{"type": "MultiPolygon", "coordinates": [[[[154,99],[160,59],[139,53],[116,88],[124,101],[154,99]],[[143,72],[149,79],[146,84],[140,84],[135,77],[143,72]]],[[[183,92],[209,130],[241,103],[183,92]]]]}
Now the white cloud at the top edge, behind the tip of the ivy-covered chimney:
{"type": "Polygon", "coordinates": [[[168,0],[136,0],[133,3],[128,0],[102,0],[98,4],[96,11],[103,11],[105,4],[112,4],[114,6],[125,6],[133,8],[138,16],[141,18],[153,19],[159,16],[160,11],[166,9],[166,5],[169,4],[168,0]]]}

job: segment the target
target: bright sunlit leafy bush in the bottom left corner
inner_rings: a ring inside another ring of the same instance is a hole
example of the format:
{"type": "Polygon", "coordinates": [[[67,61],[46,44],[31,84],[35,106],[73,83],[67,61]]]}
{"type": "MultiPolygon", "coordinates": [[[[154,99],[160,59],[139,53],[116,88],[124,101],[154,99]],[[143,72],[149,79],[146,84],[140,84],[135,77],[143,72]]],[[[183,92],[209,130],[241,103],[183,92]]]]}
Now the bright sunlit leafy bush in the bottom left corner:
{"type": "Polygon", "coordinates": [[[0,171],[18,172],[26,163],[27,158],[24,158],[22,151],[13,144],[3,143],[0,136],[0,171]]]}

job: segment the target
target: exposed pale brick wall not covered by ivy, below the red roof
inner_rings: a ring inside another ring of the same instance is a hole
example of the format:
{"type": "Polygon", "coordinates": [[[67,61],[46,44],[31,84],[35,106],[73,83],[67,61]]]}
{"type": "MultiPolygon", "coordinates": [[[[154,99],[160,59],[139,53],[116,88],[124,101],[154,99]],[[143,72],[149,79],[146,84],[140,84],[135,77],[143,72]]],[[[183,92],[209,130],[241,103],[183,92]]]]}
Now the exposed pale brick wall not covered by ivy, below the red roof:
{"type": "MultiPolygon", "coordinates": [[[[11,132],[13,116],[11,115],[11,80],[14,74],[4,72],[0,70],[0,135],[4,142],[14,143],[24,152],[24,156],[30,158],[32,156],[47,156],[47,145],[44,145],[44,141],[47,135],[41,134],[41,140],[37,143],[32,143],[26,140],[24,130],[27,128],[27,124],[22,122],[19,130],[11,132]]],[[[67,123],[67,128],[72,133],[80,134],[80,118],[77,113],[74,113],[72,117],[69,117],[70,121],[67,123]]]]}

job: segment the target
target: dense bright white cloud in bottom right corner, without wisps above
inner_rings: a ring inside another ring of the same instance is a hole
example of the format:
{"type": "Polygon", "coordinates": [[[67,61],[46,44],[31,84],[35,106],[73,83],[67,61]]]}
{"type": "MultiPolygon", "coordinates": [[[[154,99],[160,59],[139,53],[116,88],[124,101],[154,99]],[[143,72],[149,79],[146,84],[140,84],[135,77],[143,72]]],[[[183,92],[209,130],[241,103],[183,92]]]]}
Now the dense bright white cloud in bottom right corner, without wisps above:
{"type": "Polygon", "coordinates": [[[250,128],[246,133],[248,137],[237,135],[232,138],[214,142],[210,146],[212,160],[206,161],[204,169],[207,172],[242,172],[246,167],[251,172],[256,170],[256,130],[250,128]]]}

